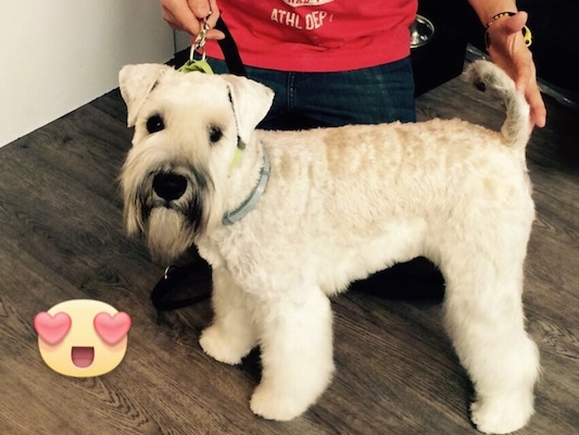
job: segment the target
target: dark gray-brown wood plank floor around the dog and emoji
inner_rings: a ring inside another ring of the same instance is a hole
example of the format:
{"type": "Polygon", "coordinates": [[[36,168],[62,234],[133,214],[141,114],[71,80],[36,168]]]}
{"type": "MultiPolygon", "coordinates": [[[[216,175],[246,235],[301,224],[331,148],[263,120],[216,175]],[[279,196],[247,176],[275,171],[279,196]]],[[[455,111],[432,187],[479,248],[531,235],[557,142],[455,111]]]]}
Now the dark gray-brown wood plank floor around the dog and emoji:
{"type": "MultiPolygon", "coordinates": [[[[579,433],[579,113],[545,98],[547,126],[528,148],[538,217],[524,296],[543,376],[519,433],[564,435],[579,433]]],[[[503,119],[460,78],[418,108],[421,120],[498,128],[503,119]]],[[[333,299],[337,374],[316,406],[289,423],[254,417],[256,352],[239,366],[213,361],[198,345],[209,301],[159,313],[149,300],[163,265],[121,222],[116,177],[129,141],[112,91],[0,149],[0,434],[476,433],[473,389],[441,326],[440,283],[407,272],[333,299]],[[79,298],[133,319],[125,359],[99,377],[59,375],[38,351],[35,314],[79,298]]]]}

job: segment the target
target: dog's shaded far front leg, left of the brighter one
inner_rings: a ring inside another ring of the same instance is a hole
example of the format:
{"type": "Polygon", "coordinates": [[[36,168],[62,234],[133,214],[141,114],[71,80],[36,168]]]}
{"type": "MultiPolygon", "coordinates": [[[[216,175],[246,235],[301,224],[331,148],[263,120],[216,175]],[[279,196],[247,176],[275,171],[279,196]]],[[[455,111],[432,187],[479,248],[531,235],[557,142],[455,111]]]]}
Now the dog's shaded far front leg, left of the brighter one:
{"type": "Polygon", "coordinates": [[[247,310],[248,297],[225,268],[213,271],[214,319],[199,343],[217,361],[238,364],[257,345],[257,333],[247,310]]]}

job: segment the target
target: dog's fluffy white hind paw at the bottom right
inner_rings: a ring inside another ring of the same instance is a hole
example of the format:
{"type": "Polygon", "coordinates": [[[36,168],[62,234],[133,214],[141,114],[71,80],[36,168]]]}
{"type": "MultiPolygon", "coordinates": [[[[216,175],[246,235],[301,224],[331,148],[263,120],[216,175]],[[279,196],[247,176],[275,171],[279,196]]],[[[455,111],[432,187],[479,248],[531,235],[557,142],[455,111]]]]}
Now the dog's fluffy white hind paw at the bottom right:
{"type": "Polygon", "coordinates": [[[509,434],[529,421],[533,413],[530,400],[511,398],[479,400],[470,406],[470,418],[480,432],[486,434],[509,434]]]}

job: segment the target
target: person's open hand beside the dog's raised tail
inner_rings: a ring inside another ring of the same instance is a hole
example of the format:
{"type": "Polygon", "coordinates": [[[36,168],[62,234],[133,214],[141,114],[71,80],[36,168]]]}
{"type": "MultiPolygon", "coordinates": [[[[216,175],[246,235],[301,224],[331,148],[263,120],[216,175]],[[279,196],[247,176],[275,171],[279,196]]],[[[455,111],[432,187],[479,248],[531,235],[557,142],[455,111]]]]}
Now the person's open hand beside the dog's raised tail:
{"type": "Polygon", "coordinates": [[[523,27],[527,23],[527,13],[495,20],[489,26],[489,54],[491,60],[501,66],[514,80],[518,90],[531,108],[531,129],[536,125],[544,127],[546,109],[537,84],[537,70],[532,53],[525,45],[523,27]]]}

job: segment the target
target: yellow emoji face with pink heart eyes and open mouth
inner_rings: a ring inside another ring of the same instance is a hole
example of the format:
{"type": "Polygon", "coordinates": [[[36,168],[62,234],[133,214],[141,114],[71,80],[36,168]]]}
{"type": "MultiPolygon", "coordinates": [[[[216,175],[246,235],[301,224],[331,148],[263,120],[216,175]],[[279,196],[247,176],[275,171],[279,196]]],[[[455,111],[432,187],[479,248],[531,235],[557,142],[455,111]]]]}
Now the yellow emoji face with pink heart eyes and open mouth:
{"type": "Polygon", "coordinates": [[[74,299],[34,319],[47,365],[74,377],[100,376],[115,369],[127,350],[130,318],[108,303],[74,299]]]}

